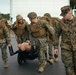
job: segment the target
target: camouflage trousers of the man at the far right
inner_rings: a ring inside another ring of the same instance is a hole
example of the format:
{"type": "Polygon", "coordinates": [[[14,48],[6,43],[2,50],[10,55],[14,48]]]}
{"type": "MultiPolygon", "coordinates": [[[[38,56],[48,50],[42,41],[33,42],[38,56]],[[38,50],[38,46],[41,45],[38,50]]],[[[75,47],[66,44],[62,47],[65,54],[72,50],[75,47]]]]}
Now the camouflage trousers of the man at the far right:
{"type": "Polygon", "coordinates": [[[76,51],[61,50],[62,61],[67,75],[76,75],[76,51]]]}

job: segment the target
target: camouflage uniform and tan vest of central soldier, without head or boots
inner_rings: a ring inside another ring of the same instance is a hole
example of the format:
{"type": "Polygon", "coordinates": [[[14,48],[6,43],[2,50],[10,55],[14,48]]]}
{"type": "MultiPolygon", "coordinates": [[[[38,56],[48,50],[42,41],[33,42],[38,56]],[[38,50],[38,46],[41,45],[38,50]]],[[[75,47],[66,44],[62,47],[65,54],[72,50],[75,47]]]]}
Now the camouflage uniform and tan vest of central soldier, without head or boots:
{"type": "Polygon", "coordinates": [[[54,35],[55,31],[52,26],[48,25],[45,20],[38,20],[37,23],[30,24],[31,34],[34,39],[38,39],[40,43],[40,50],[39,50],[39,60],[40,63],[43,64],[46,61],[45,53],[46,53],[46,37],[47,37],[47,30],[50,34],[54,35]]]}

